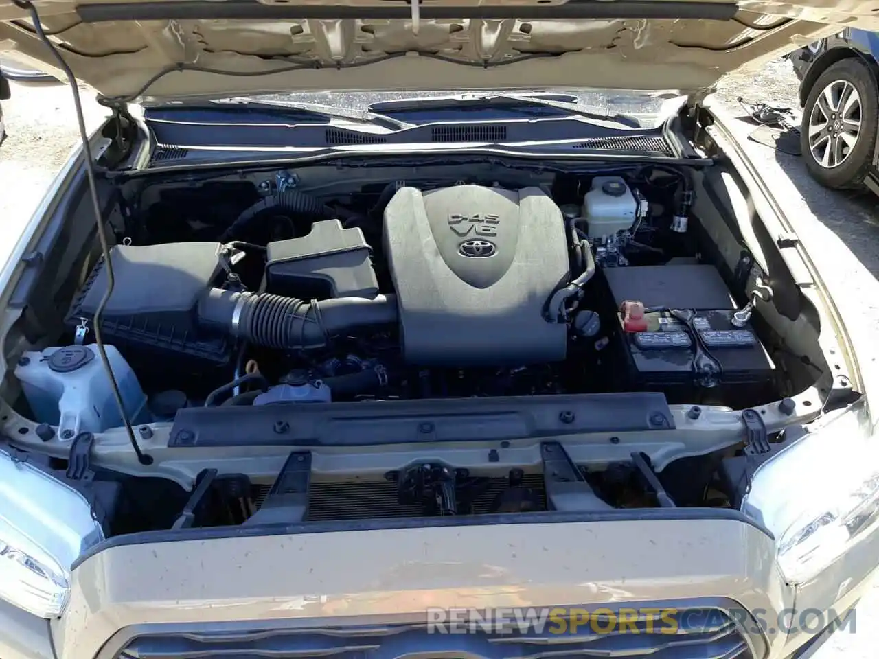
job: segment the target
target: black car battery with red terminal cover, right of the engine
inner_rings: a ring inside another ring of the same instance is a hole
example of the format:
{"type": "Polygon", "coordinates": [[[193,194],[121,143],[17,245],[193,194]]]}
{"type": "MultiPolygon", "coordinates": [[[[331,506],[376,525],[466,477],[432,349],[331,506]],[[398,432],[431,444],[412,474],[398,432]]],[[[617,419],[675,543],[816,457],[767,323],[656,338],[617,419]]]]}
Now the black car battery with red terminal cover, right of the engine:
{"type": "Polygon", "coordinates": [[[618,313],[629,387],[726,389],[772,382],[772,358],[749,322],[733,324],[736,305],[714,267],[635,266],[609,269],[605,275],[618,311],[625,302],[636,301],[644,312],[636,322],[618,313]],[[706,361],[713,366],[713,377],[704,377],[699,368],[706,361]]]}

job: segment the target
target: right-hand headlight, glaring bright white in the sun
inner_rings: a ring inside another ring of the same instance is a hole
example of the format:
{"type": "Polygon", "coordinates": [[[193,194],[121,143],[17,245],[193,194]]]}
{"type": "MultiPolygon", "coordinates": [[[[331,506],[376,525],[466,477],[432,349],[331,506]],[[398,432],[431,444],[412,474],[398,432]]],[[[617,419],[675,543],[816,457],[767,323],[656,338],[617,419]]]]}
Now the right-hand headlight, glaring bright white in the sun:
{"type": "Polygon", "coordinates": [[[788,583],[805,583],[872,529],[879,438],[864,399],[763,463],[742,510],[775,536],[788,583]]]}

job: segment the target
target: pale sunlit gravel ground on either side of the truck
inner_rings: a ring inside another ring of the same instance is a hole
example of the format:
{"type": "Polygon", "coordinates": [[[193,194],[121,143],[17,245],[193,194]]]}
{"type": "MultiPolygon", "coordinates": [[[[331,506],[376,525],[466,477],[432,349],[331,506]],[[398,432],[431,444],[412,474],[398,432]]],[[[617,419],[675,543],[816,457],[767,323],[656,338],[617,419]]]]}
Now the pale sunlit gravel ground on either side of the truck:
{"type": "MultiPolygon", "coordinates": [[[[55,172],[77,141],[69,91],[62,86],[23,87],[12,83],[12,98],[4,102],[8,139],[0,146],[0,253],[18,235],[55,172]]],[[[88,126],[96,127],[104,111],[84,91],[88,126]]],[[[796,107],[797,81],[788,62],[770,62],[757,71],[741,71],[719,85],[717,98],[732,117],[743,114],[739,96],[752,101],[796,107]]],[[[875,341],[879,328],[879,199],[864,193],[828,192],[815,185],[799,158],[785,156],[748,141],[753,129],[731,122],[745,150],[757,165],[776,199],[795,223],[797,234],[813,258],[830,267],[825,278],[839,307],[861,315],[849,327],[859,342],[875,341]]],[[[855,315],[854,317],[858,317],[855,315]]],[[[859,355],[861,367],[873,369],[872,355],[859,355]]],[[[879,627],[868,620],[879,613],[879,589],[858,607],[856,633],[834,636],[815,659],[868,659],[875,656],[879,627]]]]}

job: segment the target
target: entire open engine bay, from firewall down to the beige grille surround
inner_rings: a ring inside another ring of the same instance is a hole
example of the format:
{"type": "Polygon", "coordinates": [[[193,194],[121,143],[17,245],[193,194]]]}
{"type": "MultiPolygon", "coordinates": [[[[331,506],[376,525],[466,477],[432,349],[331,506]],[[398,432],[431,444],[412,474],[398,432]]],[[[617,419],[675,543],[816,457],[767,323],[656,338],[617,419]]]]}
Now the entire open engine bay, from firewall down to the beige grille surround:
{"type": "Polygon", "coordinates": [[[78,277],[58,273],[57,329],[40,333],[54,326],[36,305],[21,319],[35,338],[12,358],[11,409],[33,426],[16,432],[108,537],[735,506],[749,455],[817,409],[790,396],[826,366],[803,301],[698,176],[132,177],[108,224],[112,291],[84,243],[78,277]],[[124,439],[105,361],[149,460],[124,439]]]}

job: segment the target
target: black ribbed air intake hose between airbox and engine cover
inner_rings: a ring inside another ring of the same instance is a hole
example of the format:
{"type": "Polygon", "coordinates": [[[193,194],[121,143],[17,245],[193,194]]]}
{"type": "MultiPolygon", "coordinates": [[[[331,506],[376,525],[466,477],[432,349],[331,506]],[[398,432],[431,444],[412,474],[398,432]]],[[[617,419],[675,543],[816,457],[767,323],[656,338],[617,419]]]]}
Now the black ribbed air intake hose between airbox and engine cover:
{"type": "Polygon", "coordinates": [[[307,302],[212,288],[199,302],[199,319],[266,348],[316,348],[344,332],[396,323],[396,296],[307,302]]]}

